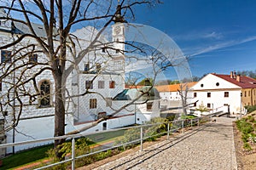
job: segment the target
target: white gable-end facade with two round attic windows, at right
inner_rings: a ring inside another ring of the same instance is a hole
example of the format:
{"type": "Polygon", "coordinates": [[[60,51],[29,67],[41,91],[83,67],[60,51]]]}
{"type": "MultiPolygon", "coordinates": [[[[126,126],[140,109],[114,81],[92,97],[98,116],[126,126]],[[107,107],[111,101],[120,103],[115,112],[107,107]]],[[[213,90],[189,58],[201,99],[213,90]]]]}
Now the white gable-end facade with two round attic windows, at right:
{"type": "Polygon", "coordinates": [[[191,109],[204,105],[210,112],[212,109],[213,112],[227,112],[228,105],[230,105],[230,113],[241,111],[241,87],[214,74],[203,77],[195,86],[190,88],[189,93],[193,97],[191,102],[198,100],[191,109]]]}

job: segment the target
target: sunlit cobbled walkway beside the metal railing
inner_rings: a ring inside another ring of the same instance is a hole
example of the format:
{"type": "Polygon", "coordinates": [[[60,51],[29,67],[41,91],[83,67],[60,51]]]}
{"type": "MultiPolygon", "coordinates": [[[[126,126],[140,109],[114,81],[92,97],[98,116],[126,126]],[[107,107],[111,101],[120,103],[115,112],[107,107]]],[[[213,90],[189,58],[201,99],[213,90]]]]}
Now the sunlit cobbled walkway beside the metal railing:
{"type": "Polygon", "coordinates": [[[216,120],[96,169],[237,169],[234,119],[216,120]]]}

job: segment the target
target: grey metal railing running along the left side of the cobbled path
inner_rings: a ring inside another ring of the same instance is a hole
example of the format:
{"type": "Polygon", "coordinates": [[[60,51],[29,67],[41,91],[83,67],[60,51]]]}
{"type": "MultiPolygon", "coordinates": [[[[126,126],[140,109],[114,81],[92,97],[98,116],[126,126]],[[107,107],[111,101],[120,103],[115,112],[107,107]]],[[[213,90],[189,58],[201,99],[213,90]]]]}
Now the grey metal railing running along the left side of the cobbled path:
{"type": "Polygon", "coordinates": [[[52,143],[56,140],[56,139],[71,139],[72,142],[72,151],[71,151],[71,156],[67,157],[64,161],[58,161],[55,163],[51,163],[49,165],[46,165],[44,167],[38,167],[37,169],[44,169],[47,167],[54,167],[66,162],[70,162],[71,161],[71,168],[75,169],[75,161],[83,158],[85,156],[91,156],[91,155],[95,155],[97,153],[103,152],[103,151],[107,151],[107,150],[113,150],[115,148],[119,148],[119,147],[124,147],[127,146],[129,144],[140,144],[140,150],[143,151],[143,141],[146,139],[150,139],[150,138],[154,138],[160,135],[166,135],[166,139],[169,140],[170,139],[170,133],[174,133],[178,130],[181,130],[181,132],[183,133],[184,131],[184,127],[193,127],[193,126],[199,126],[200,122],[208,122],[212,119],[212,116],[201,116],[201,117],[197,117],[194,119],[181,119],[181,120],[176,120],[176,121],[172,121],[172,122],[160,122],[160,123],[154,123],[154,124],[144,124],[144,125],[140,125],[140,126],[134,126],[134,127],[123,127],[123,128],[116,128],[116,129],[109,129],[109,130],[105,130],[105,131],[99,131],[99,132],[93,132],[93,133],[79,133],[79,134],[73,134],[73,135],[65,135],[65,136],[61,136],[61,137],[54,137],[54,138],[47,138],[47,139],[35,139],[35,140],[29,140],[29,141],[24,141],[24,142],[16,142],[16,143],[9,143],[9,144],[0,144],[0,149],[1,148],[8,148],[8,147],[13,147],[13,146],[17,146],[17,145],[22,145],[22,144],[35,144],[35,143],[40,143],[40,142],[46,142],[46,141],[52,141],[52,143]],[[161,131],[161,132],[155,132],[152,135],[148,135],[148,131],[150,131],[150,129],[157,129],[157,127],[160,127],[161,125],[165,125],[166,126],[166,130],[165,131],[161,131]],[[76,156],[76,150],[75,150],[75,139],[78,139],[80,137],[86,137],[86,136],[90,136],[93,134],[98,134],[98,133],[109,133],[109,132],[117,132],[120,130],[128,130],[128,129],[137,129],[136,131],[139,132],[139,135],[137,135],[137,139],[132,139],[131,141],[125,142],[125,143],[120,143],[120,144],[115,144],[112,146],[109,146],[105,149],[102,150],[94,150],[90,153],[84,154],[82,156],[76,156]]]}

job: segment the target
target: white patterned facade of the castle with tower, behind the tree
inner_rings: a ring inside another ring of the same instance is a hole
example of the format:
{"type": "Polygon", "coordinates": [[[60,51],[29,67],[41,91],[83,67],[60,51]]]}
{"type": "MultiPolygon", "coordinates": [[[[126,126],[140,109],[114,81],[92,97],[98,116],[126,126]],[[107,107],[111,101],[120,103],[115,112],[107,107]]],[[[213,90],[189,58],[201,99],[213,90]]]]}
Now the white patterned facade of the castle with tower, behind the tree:
{"type": "MultiPolygon", "coordinates": [[[[3,11],[2,11],[3,12],[3,11]]],[[[10,23],[1,23],[0,26],[0,46],[12,41],[10,23]]],[[[38,26],[37,26],[38,27],[38,26]]],[[[93,27],[86,27],[79,31],[73,32],[78,38],[79,44],[76,46],[76,50],[79,52],[84,48],[87,48],[90,44],[93,36],[96,35],[96,29],[93,27]]],[[[125,56],[120,51],[125,50],[125,44],[119,43],[125,41],[125,26],[121,23],[113,25],[113,43],[109,44],[111,49],[98,46],[97,49],[86,54],[84,58],[79,62],[77,68],[67,78],[67,90],[69,94],[67,96],[81,95],[79,98],[67,99],[66,102],[66,133],[71,132],[80,127],[90,125],[95,122],[102,114],[111,115],[114,111],[118,110],[124,102],[113,101],[113,97],[122,92],[125,89],[125,56]],[[115,50],[113,50],[113,48],[115,50]],[[108,50],[106,53],[105,50],[108,50]],[[88,82],[91,82],[92,88],[88,86],[88,82]]],[[[44,35],[43,35],[44,36],[44,35]]],[[[77,39],[76,39],[77,40],[77,39]]],[[[100,37],[101,42],[107,42],[104,37],[100,37]]],[[[24,44],[29,44],[31,39],[26,39],[24,44]]],[[[76,42],[76,41],[74,41],[76,42]]],[[[39,48],[38,48],[39,49],[39,48]]],[[[15,49],[9,48],[8,50],[14,51],[15,49]]],[[[70,52],[67,54],[70,57],[71,62],[67,62],[67,66],[71,65],[73,59],[70,52]]],[[[3,56],[1,56],[3,57],[3,56]]],[[[28,62],[28,58],[20,59],[20,65],[22,62],[28,62]]],[[[38,62],[48,62],[44,54],[38,54],[38,62]]],[[[7,64],[8,66],[8,64],[7,64]]],[[[44,69],[44,66],[35,66],[24,72],[15,71],[14,77],[19,77],[20,74],[23,77],[30,76],[37,71],[44,69]],[[26,75],[27,74],[27,75],[26,75]]],[[[14,81],[13,77],[5,77],[2,79],[1,95],[7,94],[8,88],[12,85],[6,82],[14,81]]],[[[15,130],[9,130],[5,133],[6,139],[3,143],[19,142],[24,140],[42,139],[47,137],[53,137],[54,135],[54,113],[55,113],[55,84],[54,78],[51,72],[48,70],[43,71],[40,76],[36,78],[38,82],[38,88],[40,89],[41,84],[45,81],[49,82],[49,105],[48,107],[40,107],[38,99],[30,101],[29,98],[24,97],[22,101],[26,103],[23,106],[22,114],[20,115],[20,122],[15,127],[15,130]]],[[[25,87],[27,90],[34,91],[33,84],[25,87]]],[[[10,96],[11,97],[11,96],[10,96]]],[[[152,101],[152,107],[158,107],[159,105],[154,104],[152,101]]],[[[158,103],[157,103],[158,104],[158,103]]],[[[17,105],[14,104],[14,105],[17,105]]],[[[144,105],[129,106],[123,111],[119,111],[118,114],[114,115],[110,119],[100,122],[96,127],[91,127],[88,132],[95,132],[108,128],[122,127],[131,125],[133,123],[143,123],[149,121],[153,116],[159,116],[158,110],[146,111],[144,105]],[[144,111],[145,110],[145,111],[144,111]],[[153,114],[156,111],[156,115],[153,114]]],[[[1,114],[0,119],[5,120],[5,123],[12,123],[13,115],[18,114],[18,110],[13,111],[11,108],[6,106],[7,114],[1,114]]],[[[40,145],[40,144],[38,144],[40,145]]],[[[15,147],[15,150],[8,148],[7,153],[13,151],[23,150],[30,148],[34,145],[26,145],[22,147],[15,147]]]]}

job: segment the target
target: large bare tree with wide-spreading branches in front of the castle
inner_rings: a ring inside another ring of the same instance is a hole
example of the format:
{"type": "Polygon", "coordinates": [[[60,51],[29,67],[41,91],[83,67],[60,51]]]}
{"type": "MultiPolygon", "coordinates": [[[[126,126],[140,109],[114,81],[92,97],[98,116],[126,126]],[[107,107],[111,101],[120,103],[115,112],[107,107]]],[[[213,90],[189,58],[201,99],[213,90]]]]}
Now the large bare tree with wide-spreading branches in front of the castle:
{"type": "MultiPolygon", "coordinates": [[[[175,50],[172,53],[162,54],[159,50],[149,48],[136,42],[121,42],[113,40],[104,41],[103,32],[113,22],[124,23],[125,19],[133,16],[132,8],[136,5],[159,3],[157,0],[122,0],[116,8],[116,2],[112,0],[13,0],[6,1],[6,5],[0,6],[1,10],[6,12],[0,20],[3,20],[7,26],[5,32],[6,42],[1,43],[0,49],[4,56],[0,70],[2,71],[0,79],[5,90],[1,94],[1,112],[3,117],[6,111],[12,110],[8,126],[5,130],[15,128],[22,113],[30,105],[35,107],[54,106],[55,116],[55,137],[65,134],[65,114],[69,110],[69,105],[73,99],[87,94],[98,94],[104,99],[104,95],[91,92],[90,83],[96,77],[102,74],[104,69],[95,65],[95,76],[91,77],[89,86],[83,93],[73,95],[70,93],[70,77],[86,55],[95,54],[95,60],[99,51],[104,50],[108,55],[105,60],[102,56],[102,63],[108,63],[108,59],[113,58],[111,51],[117,51],[119,54],[132,54],[127,57],[128,65],[143,61],[150,68],[150,74],[146,75],[152,79],[153,84],[147,91],[141,91],[136,99],[120,108],[113,108],[113,113],[99,118],[88,127],[82,127],[79,130],[70,133],[79,133],[97,123],[116,115],[119,111],[133,105],[138,99],[148,96],[154,86],[156,77],[165,71],[168,67],[182,65],[183,60],[178,62],[170,61],[172,56],[178,56],[175,50]],[[12,17],[19,16],[19,17],[12,17]],[[37,22],[35,24],[34,22],[37,22]],[[79,41],[79,37],[73,35],[72,31],[76,26],[92,25],[97,31],[92,29],[92,35],[88,44],[84,46],[79,41]],[[20,28],[23,29],[20,29],[20,28]],[[131,48],[120,50],[115,48],[113,43],[121,43],[131,48]],[[143,54],[143,57],[137,57],[134,54],[143,54]],[[52,84],[45,80],[48,77],[52,84]],[[52,87],[52,88],[51,88],[52,87]],[[52,99],[54,98],[54,99],[52,99]]],[[[3,11],[2,11],[3,12],[3,11]]],[[[2,22],[3,23],[3,22],[2,22]]],[[[165,44],[165,42],[162,42],[165,44]]],[[[131,78],[131,80],[135,80],[131,78]]],[[[144,99],[147,101],[147,98],[144,99]]],[[[61,144],[64,140],[55,140],[55,146],[61,144]]]]}

